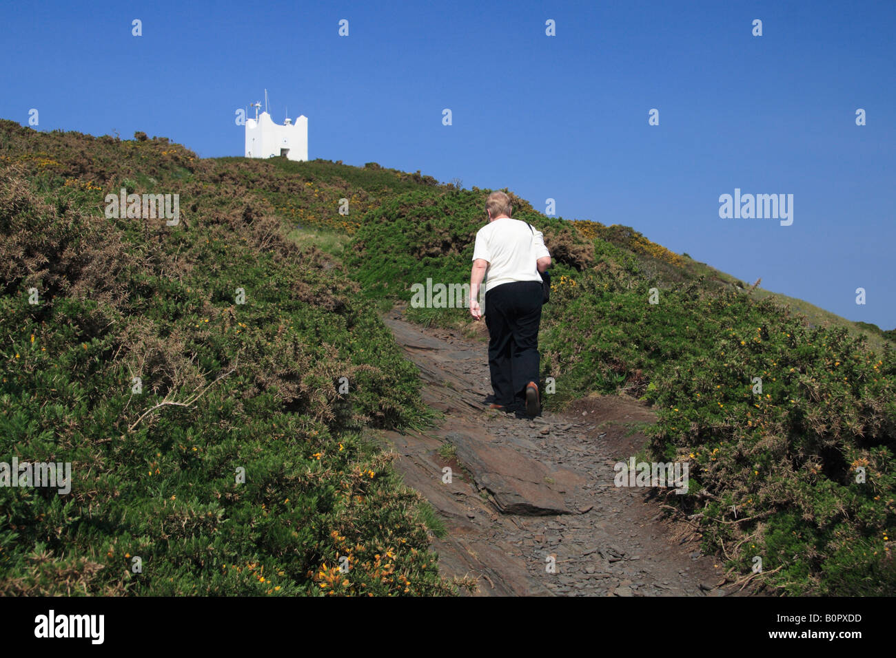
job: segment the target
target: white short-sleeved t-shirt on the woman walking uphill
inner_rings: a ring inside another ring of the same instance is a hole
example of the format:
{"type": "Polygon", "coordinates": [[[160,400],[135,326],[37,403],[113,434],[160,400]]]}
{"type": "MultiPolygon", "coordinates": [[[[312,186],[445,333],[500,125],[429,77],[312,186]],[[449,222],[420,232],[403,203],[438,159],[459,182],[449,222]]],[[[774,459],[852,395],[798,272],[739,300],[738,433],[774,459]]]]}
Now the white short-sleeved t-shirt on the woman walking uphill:
{"type": "Polygon", "coordinates": [[[550,256],[544,236],[519,219],[503,217],[489,222],[476,234],[473,260],[488,261],[486,292],[512,281],[541,281],[536,261],[550,256]]]}

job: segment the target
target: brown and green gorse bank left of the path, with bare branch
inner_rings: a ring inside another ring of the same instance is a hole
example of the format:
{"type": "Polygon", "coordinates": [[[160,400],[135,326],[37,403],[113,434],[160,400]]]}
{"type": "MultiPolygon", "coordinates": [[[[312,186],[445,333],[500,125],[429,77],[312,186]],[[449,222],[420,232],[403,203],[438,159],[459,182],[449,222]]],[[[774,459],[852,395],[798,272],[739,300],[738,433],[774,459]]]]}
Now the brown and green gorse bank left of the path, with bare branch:
{"type": "Polygon", "coordinates": [[[0,594],[455,591],[364,438],[426,422],[416,370],[340,264],[181,147],[0,128],[0,461],[72,465],[0,487],[0,594]],[[103,217],[125,180],[180,225],[103,217]]]}

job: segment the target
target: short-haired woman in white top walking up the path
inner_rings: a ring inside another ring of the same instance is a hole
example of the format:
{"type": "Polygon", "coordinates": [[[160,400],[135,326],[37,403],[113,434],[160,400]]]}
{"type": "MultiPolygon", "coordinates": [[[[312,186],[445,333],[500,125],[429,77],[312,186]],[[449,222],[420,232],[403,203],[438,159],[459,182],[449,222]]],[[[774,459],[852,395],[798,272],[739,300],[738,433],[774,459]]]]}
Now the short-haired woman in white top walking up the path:
{"type": "Polygon", "coordinates": [[[538,394],[538,326],[541,324],[541,277],[551,264],[544,238],[526,222],[511,218],[513,206],[504,192],[486,200],[488,224],[478,230],[470,273],[470,314],[482,317],[479,286],[486,280],[488,368],[495,391],[493,409],[526,414],[541,412],[538,394]]]}

